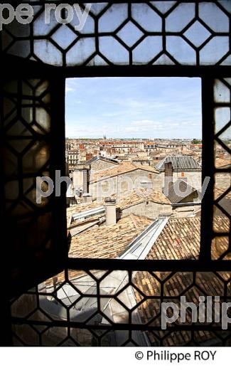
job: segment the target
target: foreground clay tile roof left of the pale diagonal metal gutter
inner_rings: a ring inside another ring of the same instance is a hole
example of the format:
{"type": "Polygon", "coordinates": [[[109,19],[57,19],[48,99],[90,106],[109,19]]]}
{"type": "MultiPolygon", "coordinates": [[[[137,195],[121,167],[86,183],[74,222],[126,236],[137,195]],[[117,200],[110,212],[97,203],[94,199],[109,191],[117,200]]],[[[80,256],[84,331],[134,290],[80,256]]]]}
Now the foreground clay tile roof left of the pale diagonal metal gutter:
{"type": "Polygon", "coordinates": [[[70,258],[117,258],[153,221],[130,214],[116,225],[100,226],[72,237],[70,258]]]}

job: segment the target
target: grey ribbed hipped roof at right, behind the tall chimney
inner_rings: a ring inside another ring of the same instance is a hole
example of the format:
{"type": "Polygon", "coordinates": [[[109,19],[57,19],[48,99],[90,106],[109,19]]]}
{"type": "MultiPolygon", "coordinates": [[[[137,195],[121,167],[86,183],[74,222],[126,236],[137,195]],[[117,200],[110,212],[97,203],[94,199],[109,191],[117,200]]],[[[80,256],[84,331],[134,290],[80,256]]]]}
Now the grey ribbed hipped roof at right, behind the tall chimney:
{"type": "Polygon", "coordinates": [[[173,164],[173,170],[200,170],[200,164],[190,155],[174,155],[174,156],[167,156],[161,161],[156,164],[156,169],[159,171],[164,171],[164,165],[168,162],[173,164]]]}

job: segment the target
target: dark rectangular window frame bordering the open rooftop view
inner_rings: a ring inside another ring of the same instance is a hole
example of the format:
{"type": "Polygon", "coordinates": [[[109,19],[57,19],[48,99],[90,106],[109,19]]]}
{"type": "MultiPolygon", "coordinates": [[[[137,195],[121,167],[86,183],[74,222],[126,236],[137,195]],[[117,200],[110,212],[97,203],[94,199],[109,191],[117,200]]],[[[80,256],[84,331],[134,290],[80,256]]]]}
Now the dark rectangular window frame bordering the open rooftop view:
{"type": "MultiPolygon", "coordinates": [[[[3,64],[4,65],[4,64],[3,64]]],[[[65,253],[65,262],[64,260],[61,263],[61,267],[63,268],[65,265],[68,267],[81,268],[84,266],[85,268],[105,268],[110,265],[110,268],[119,268],[119,269],[127,269],[131,268],[134,270],[141,270],[143,268],[151,268],[152,270],[159,270],[159,269],[166,269],[166,270],[173,270],[178,269],[181,266],[181,270],[230,270],[231,262],[229,260],[219,260],[213,261],[210,258],[210,242],[214,236],[213,233],[213,175],[215,173],[215,167],[213,164],[213,81],[215,78],[222,78],[230,75],[230,67],[222,67],[222,66],[208,66],[208,67],[183,67],[181,66],[105,66],[105,67],[76,67],[76,68],[54,68],[47,65],[43,65],[42,63],[38,62],[26,62],[25,60],[21,60],[20,58],[16,57],[9,57],[7,56],[5,59],[5,66],[7,66],[11,80],[14,78],[18,78],[20,75],[21,78],[28,78],[28,77],[40,77],[43,78],[51,78],[54,82],[54,90],[53,96],[55,97],[55,104],[54,98],[52,99],[54,106],[53,112],[55,113],[55,117],[52,117],[53,121],[59,120],[61,121],[61,117],[64,120],[64,112],[65,112],[65,78],[81,78],[81,77],[100,77],[100,76],[149,76],[149,77],[199,77],[201,78],[202,82],[202,109],[203,109],[203,179],[205,176],[210,176],[210,184],[208,186],[207,191],[205,192],[205,196],[202,201],[202,216],[201,216],[201,245],[200,248],[200,258],[199,260],[163,260],[163,261],[119,261],[119,260],[95,260],[95,259],[70,259],[67,258],[67,248],[64,243],[62,246],[60,245],[60,249],[66,250],[65,253]],[[12,69],[9,66],[12,65],[12,69]],[[18,65],[17,70],[13,67],[18,65]],[[18,72],[20,70],[20,73],[18,72]],[[58,110],[57,110],[58,107],[58,110]],[[60,116],[61,114],[61,116],[60,116]],[[211,129],[208,129],[210,127],[211,129]],[[206,265],[205,265],[206,263],[206,265]],[[109,264],[109,265],[108,265],[109,264]]],[[[7,78],[6,75],[4,79],[7,78]]],[[[57,121],[58,122],[58,121],[57,121]]],[[[64,121],[63,121],[64,122],[64,121]]],[[[56,125],[55,130],[58,129],[58,125],[56,125]]],[[[60,135],[54,134],[54,139],[60,139],[61,147],[64,148],[64,141],[65,137],[62,135],[64,134],[63,128],[60,129],[60,135]]],[[[53,143],[54,148],[57,147],[57,142],[53,143]]],[[[56,154],[55,154],[56,155],[56,154]]],[[[65,162],[65,150],[60,154],[57,153],[57,157],[55,158],[55,166],[53,169],[57,169],[57,166],[61,167],[61,173],[65,173],[64,169],[64,162],[65,162]]],[[[229,169],[222,169],[217,170],[217,172],[230,172],[229,169]]],[[[56,198],[55,203],[57,206],[58,214],[63,212],[64,203],[65,203],[65,189],[63,188],[63,194],[61,196],[61,200],[56,198]],[[62,201],[63,199],[63,201],[62,201]],[[60,207],[60,204],[63,205],[60,207]]],[[[60,215],[60,218],[63,217],[60,215]]],[[[223,235],[223,234],[220,234],[223,235]]],[[[227,235],[227,233],[225,233],[227,235]]],[[[60,241],[58,241],[60,243],[60,241]]],[[[62,253],[61,253],[62,254],[62,253]]],[[[63,259],[64,255],[62,255],[63,259]]],[[[54,261],[53,261],[54,262],[54,261]]],[[[55,273],[53,270],[53,273],[55,273]]],[[[60,268],[59,268],[60,270],[60,268]]]]}

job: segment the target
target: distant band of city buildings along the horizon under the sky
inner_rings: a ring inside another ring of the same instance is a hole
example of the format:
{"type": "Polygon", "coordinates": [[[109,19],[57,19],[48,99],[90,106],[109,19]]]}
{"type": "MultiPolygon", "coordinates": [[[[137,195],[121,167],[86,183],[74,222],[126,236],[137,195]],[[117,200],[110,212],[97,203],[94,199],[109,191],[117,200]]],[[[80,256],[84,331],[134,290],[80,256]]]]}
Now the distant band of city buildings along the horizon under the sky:
{"type": "Polygon", "coordinates": [[[200,162],[202,144],[193,144],[190,140],[142,139],[66,139],[66,157],[69,169],[76,164],[102,156],[129,162],[155,164],[166,155],[193,155],[200,162]]]}

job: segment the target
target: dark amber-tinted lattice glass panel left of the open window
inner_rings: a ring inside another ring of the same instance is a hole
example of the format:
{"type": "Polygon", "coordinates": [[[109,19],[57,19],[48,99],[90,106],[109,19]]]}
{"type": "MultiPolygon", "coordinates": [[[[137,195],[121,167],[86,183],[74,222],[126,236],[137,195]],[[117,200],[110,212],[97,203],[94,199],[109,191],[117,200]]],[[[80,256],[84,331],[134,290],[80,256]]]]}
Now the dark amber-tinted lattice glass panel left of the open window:
{"type": "MultiPolygon", "coordinates": [[[[27,271],[31,275],[34,261],[43,263],[52,255],[57,259],[59,255],[53,238],[53,196],[43,198],[41,203],[36,201],[37,177],[53,179],[50,83],[43,78],[6,78],[1,94],[4,220],[14,290],[23,279],[22,274],[27,271]]],[[[47,183],[43,182],[42,190],[48,190],[47,183]]],[[[24,278],[28,280],[28,276],[24,278]]]]}

